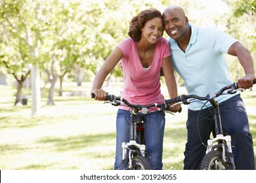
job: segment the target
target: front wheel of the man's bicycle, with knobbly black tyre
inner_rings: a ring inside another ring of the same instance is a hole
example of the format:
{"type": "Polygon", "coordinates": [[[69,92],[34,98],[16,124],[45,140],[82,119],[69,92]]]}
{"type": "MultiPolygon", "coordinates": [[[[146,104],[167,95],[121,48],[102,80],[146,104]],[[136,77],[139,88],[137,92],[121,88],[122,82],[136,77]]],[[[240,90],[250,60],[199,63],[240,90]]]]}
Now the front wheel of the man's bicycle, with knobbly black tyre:
{"type": "Polygon", "coordinates": [[[229,170],[228,163],[224,162],[223,154],[219,150],[213,150],[205,155],[201,164],[201,170],[229,170]]]}

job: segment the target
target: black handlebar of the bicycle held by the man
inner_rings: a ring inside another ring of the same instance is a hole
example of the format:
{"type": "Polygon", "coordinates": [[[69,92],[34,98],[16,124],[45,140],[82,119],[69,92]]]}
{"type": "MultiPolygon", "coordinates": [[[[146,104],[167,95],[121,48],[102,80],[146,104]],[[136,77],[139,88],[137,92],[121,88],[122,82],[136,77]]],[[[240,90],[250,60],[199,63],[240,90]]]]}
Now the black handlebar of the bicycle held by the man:
{"type": "MultiPolygon", "coordinates": [[[[256,79],[253,80],[253,84],[256,84],[256,79]]],[[[234,82],[233,84],[229,85],[229,86],[225,86],[223,88],[221,88],[221,90],[219,90],[219,92],[217,92],[214,97],[219,97],[219,95],[221,95],[224,91],[228,90],[227,93],[236,93],[236,90],[238,90],[238,83],[234,82]],[[230,90],[229,90],[230,89],[230,90]]],[[[182,102],[183,104],[187,105],[190,102],[186,101],[186,99],[190,99],[190,98],[194,98],[194,99],[198,99],[200,101],[205,101],[205,100],[209,100],[212,99],[213,97],[210,96],[210,94],[206,95],[205,97],[200,97],[198,95],[181,95],[179,97],[175,97],[173,99],[167,99],[165,100],[165,103],[169,104],[169,103],[179,103],[182,102]]]]}

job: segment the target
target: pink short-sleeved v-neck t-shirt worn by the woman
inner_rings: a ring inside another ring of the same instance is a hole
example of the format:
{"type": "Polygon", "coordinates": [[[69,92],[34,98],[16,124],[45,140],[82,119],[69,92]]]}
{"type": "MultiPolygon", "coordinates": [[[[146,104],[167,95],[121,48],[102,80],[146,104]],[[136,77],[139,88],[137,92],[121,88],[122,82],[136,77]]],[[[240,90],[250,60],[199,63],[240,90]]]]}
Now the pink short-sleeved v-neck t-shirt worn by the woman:
{"type": "MultiPolygon", "coordinates": [[[[169,42],[162,38],[156,42],[156,49],[152,65],[144,71],[137,52],[137,42],[131,38],[124,39],[117,44],[123,52],[121,65],[123,68],[123,91],[121,97],[131,104],[150,105],[163,103],[164,97],[160,90],[160,69],[163,58],[171,56],[169,42]]],[[[129,110],[129,107],[119,108],[129,110]]]]}

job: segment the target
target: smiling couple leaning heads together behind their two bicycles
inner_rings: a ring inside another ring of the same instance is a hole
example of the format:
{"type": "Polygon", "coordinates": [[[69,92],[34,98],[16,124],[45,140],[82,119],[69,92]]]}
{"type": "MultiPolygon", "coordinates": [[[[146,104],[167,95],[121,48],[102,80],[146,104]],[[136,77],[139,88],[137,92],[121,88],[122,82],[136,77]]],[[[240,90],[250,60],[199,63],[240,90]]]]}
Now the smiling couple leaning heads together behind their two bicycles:
{"type": "MultiPolygon", "coordinates": [[[[184,80],[188,94],[205,96],[232,84],[223,54],[237,56],[244,67],[245,76],[238,79],[240,88],[248,89],[253,86],[255,71],[253,59],[247,48],[218,29],[190,24],[181,7],[167,7],[163,14],[155,8],[143,10],[131,20],[128,35],[130,38],[117,44],[96,74],[91,90],[91,93],[95,93],[95,100],[105,99],[106,92],[101,89],[102,84],[120,60],[124,82],[121,96],[132,104],[149,105],[164,102],[160,91],[161,68],[170,98],[177,97],[173,69],[184,80]],[[162,37],[164,30],[170,37],[169,42],[162,37]]],[[[253,140],[240,95],[224,95],[219,103],[223,127],[232,137],[236,169],[254,169],[253,140]]],[[[200,103],[188,106],[184,169],[200,169],[200,163],[205,155],[206,147],[198,137],[197,128],[197,117],[201,107],[200,103]]],[[[169,110],[177,112],[179,108],[181,105],[175,105],[169,110]]],[[[121,169],[121,142],[129,141],[127,110],[128,107],[120,106],[117,112],[114,169],[121,169]]],[[[203,115],[211,117],[207,109],[203,110],[203,115]]],[[[152,169],[162,169],[165,114],[150,112],[142,116],[142,120],[146,151],[152,169]]],[[[213,120],[202,119],[199,124],[200,134],[203,134],[202,140],[206,142],[213,120]]]]}

